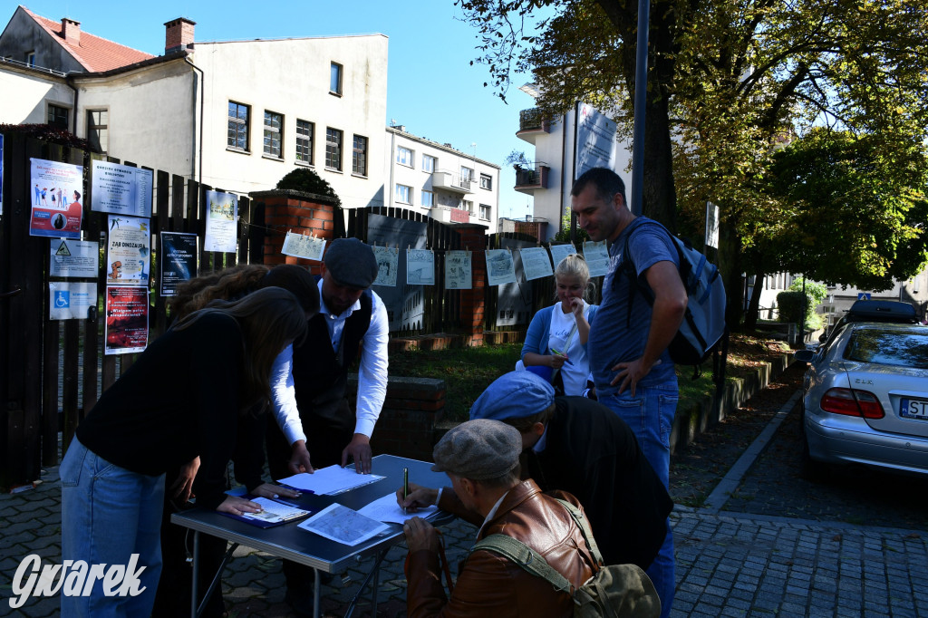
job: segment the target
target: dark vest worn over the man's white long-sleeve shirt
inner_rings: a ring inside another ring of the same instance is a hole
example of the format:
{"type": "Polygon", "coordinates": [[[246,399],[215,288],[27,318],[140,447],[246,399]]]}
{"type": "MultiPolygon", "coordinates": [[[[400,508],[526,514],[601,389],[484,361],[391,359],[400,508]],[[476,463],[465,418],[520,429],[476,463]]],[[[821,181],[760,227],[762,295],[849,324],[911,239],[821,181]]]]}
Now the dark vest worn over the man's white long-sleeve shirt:
{"type": "MultiPolygon", "coordinates": [[[[316,314],[309,321],[306,339],[293,347],[293,383],[300,416],[334,419],[350,414],[345,394],[348,389],[348,367],[360,352],[361,341],[370,328],[373,297],[365,290],[361,308],[345,320],[339,350],[332,350],[329,339],[328,315],[316,314]]],[[[344,418],[354,426],[354,415],[344,418]]]]}

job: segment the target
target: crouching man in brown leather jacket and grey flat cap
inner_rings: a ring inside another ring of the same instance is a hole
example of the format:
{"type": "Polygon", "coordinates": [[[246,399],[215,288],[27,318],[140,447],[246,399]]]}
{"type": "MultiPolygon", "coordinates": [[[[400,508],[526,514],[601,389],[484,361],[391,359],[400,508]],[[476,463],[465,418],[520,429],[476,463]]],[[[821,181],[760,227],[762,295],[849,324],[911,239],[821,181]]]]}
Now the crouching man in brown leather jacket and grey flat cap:
{"type": "MultiPolygon", "coordinates": [[[[448,431],[435,445],[432,470],[446,472],[462,506],[481,525],[477,540],[507,534],[532,547],[574,587],[598,566],[571,514],[532,480],[519,480],[519,431],[477,419],[448,431]],[[482,523],[481,523],[482,522],[482,523]]],[[[557,493],[579,506],[574,496],[557,493]]],[[[471,519],[471,518],[468,518],[471,519]]],[[[540,577],[496,553],[478,550],[461,567],[451,598],[441,583],[438,534],[419,518],[406,523],[407,615],[571,616],[574,602],[540,577]]]]}

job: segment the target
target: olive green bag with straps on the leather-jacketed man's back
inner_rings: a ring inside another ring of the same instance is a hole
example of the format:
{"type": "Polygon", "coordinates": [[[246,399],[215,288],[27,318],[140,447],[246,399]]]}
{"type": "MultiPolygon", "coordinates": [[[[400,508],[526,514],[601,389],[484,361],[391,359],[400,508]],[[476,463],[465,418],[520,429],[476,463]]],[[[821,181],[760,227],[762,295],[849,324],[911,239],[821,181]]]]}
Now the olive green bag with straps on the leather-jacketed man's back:
{"type": "Polygon", "coordinates": [[[599,565],[599,571],[586,580],[583,586],[574,589],[567,578],[553,569],[535,549],[506,534],[490,534],[471,547],[469,555],[478,549],[492,551],[512,560],[528,573],[548,580],[555,590],[565,592],[574,599],[574,616],[577,618],[660,616],[661,599],[651,584],[651,578],[635,564],[603,566],[596,539],[593,538],[583,513],[569,502],[558,501],[574,517],[593,559],[599,565]]]}

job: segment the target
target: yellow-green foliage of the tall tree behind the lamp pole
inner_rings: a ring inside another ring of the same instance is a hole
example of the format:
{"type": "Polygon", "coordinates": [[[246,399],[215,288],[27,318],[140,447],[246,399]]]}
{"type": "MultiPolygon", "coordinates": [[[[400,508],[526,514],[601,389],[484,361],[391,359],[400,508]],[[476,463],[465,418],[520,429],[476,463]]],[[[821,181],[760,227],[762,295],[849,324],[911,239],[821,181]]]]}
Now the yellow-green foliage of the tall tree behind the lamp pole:
{"type": "MultiPolygon", "coordinates": [[[[540,108],[585,100],[630,133],[637,2],[458,4],[501,96],[512,71],[534,71],[540,108]]],[[[653,0],[650,20],[644,212],[674,229],[678,210],[699,236],[705,202],[719,205],[718,262],[737,324],[741,273],[763,277],[792,260],[783,231],[793,203],[769,190],[778,148],[830,126],[867,136],[889,160],[924,149],[928,10],[923,0],[653,0]]]]}

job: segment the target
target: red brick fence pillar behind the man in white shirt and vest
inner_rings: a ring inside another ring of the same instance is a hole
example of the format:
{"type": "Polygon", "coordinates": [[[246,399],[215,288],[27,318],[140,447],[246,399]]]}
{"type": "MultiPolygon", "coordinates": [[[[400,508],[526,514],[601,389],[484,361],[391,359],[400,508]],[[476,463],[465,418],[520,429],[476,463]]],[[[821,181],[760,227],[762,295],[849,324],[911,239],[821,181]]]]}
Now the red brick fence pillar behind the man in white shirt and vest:
{"type": "MultiPolygon", "coordinates": [[[[325,196],[274,189],[271,191],[253,191],[251,200],[264,202],[264,264],[300,264],[309,267],[314,275],[319,275],[319,262],[304,260],[281,251],[287,232],[294,234],[315,235],[325,238],[327,243],[335,235],[335,203],[325,196]]],[[[338,216],[342,216],[339,212],[338,216]]]]}

